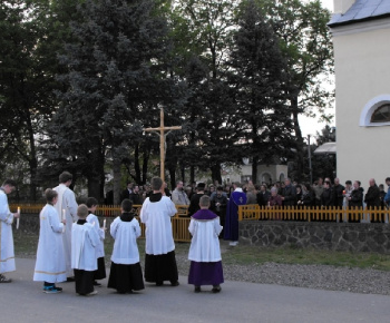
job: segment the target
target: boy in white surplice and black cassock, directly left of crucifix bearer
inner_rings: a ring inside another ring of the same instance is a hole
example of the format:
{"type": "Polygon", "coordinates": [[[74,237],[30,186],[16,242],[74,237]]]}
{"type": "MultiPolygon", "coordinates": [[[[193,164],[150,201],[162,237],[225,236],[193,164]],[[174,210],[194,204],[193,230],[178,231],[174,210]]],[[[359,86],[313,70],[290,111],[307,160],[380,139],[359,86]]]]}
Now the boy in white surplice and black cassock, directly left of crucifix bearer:
{"type": "Polygon", "coordinates": [[[140,227],[131,211],[133,202],[124,199],[121,215],[114,219],[110,226],[115,243],[108,287],[117,290],[120,294],[133,293],[133,291],[140,291],[145,287],[137,246],[140,227]]]}

